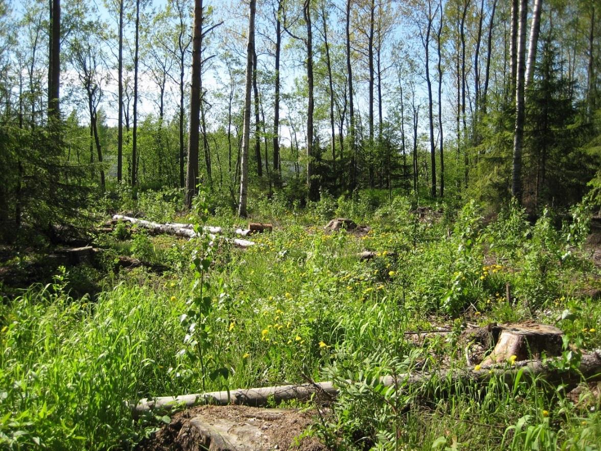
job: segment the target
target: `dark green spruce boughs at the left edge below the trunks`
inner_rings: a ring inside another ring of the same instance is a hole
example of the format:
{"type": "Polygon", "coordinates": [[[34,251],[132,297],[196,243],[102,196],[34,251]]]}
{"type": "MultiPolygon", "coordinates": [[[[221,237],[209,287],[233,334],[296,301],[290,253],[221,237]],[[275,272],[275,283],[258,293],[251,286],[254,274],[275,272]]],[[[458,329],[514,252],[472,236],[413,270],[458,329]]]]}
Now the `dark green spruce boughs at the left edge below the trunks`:
{"type": "Polygon", "coordinates": [[[85,165],[66,159],[62,126],[19,129],[0,124],[0,239],[52,239],[57,227],[83,229],[88,188],[85,165]]]}

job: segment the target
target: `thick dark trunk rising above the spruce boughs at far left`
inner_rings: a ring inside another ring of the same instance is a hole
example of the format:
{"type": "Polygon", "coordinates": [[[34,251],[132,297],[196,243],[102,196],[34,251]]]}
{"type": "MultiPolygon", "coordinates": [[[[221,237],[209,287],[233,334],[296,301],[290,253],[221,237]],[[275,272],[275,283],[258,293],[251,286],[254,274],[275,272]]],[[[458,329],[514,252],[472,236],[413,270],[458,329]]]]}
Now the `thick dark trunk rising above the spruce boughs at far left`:
{"type": "Polygon", "coordinates": [[[50,40],[48,64],[48,119],[58,120],[61,86],[61,1],[50,0],[50,40]]]}

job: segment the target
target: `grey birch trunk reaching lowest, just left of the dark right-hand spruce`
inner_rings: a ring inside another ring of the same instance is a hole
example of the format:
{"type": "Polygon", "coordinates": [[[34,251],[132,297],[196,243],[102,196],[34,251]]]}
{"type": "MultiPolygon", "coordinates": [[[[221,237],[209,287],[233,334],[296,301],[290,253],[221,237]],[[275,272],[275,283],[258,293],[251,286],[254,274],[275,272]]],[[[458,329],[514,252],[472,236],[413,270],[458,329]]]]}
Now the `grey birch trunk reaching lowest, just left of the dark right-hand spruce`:
{"type": "Polygon", "coordinates": [[[520,203],[522,202],[522,146],[524,133],[524,76],[527,16],[528,0],[520,0],[516,64],[516,128],[513,137],[513,173],[511,176],[511,195],[520,203]]]}

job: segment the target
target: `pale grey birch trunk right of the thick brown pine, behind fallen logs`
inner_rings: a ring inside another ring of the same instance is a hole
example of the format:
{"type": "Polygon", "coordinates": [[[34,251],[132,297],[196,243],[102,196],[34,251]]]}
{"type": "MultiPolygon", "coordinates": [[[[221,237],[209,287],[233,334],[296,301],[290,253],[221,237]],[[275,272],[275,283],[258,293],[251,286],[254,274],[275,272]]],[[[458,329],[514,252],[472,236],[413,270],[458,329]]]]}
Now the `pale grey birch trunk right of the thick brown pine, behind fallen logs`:
{"type": "Polygon", "coordinates": [[[240,200],[238,203],[238,215],[242,217],[246,217],[246,197],[248,194],[248,146],[251,135],[252,56],[255,52],[255,8],[256,0],[250,0],[248,14],[248,44],[246,45],[244,126],[242,131],[242,156],[240,157],[240,200]]]}

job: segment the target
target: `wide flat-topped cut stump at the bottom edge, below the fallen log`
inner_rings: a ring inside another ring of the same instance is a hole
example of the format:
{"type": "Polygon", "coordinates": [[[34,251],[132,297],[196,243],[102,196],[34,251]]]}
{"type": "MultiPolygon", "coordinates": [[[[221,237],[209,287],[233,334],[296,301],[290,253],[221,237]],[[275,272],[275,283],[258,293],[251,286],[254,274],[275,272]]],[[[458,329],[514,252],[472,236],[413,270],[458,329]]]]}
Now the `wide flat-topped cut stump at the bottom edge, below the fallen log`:
{"type": "Polygon", "coordinates": [[[299,438],[311,423],[311,414],[296,409],[203,406],[176,416],[136,450],[325,450],[317,438],[299,438]]]}

